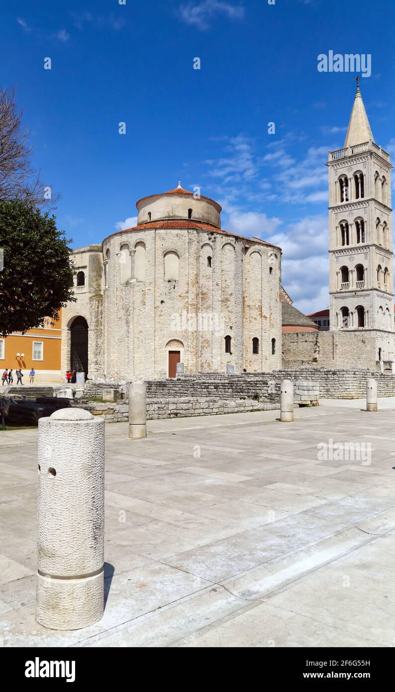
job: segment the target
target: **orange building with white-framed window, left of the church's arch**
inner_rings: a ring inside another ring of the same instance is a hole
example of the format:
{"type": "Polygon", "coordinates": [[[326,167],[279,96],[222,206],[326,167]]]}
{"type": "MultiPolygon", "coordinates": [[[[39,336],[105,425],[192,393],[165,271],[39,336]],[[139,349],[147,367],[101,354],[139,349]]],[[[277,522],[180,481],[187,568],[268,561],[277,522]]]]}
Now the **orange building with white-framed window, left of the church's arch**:
{"type": "Polygon", "coordinates": [[[29,372],[35,370],[35,382],[61,382],[60,349],[62,345],[62,316],[57,322],[45,318],[44,327],[15,332],[5,338],[0,336],[1,374],[8,368],[14,371],[14,385],[17,384],[15,370],[24,374],[24,384],[29,383],[29,372]]]}

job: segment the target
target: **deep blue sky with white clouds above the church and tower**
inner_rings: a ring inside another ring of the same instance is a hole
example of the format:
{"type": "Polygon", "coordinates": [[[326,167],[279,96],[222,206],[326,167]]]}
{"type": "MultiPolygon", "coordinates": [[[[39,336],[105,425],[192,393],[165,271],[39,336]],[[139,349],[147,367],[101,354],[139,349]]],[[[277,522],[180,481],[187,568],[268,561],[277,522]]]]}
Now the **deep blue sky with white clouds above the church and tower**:
{"type": "Polygon", "coordinates": [[[320,73],[318,55],[371,54],[362,95],[394,156],[392,0],[2,6],[0,84],[17,86],[33,165],[62,194],[73,246],[133,225],[137,199],[181,180],[221,203],[226,230],[282,246],[296,307],[327,307],[324,163],[343,145],[355,73],[320,73]]]}

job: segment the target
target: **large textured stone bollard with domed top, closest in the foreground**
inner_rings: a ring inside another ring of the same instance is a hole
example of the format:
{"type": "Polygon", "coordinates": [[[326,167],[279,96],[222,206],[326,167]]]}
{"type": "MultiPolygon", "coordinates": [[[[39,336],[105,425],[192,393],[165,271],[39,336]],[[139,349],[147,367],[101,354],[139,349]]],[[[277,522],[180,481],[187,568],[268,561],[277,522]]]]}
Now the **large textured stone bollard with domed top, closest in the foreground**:
{"type": "Polygon", "coordinates": [[[36,619],[77,630],[104,612],[104,420],[81,408],[39,419],[36,619]]]}

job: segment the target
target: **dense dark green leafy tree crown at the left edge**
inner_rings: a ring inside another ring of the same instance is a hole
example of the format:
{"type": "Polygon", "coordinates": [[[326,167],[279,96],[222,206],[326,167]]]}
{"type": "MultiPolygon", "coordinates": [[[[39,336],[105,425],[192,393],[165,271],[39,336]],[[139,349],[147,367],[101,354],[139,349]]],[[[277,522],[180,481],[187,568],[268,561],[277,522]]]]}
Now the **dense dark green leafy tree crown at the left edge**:
{"type": "Polygon", "coordinates": [[[73,268],[55,217],[19,200],[0,203],[0,334],[42,327],[73,298],[73,268]]]}

